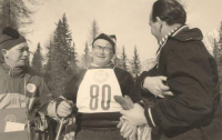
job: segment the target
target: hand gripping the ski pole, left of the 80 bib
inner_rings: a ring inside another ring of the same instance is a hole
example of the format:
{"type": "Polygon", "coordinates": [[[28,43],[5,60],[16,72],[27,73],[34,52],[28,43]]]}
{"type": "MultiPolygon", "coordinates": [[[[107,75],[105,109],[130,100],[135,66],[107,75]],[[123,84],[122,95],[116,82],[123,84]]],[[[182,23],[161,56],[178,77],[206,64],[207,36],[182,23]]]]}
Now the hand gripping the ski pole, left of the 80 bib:
{"type": "MultiPolygon", "coordinates": [[[[73,104],[73,103],[72,103],[73,104]]],[[[70,116],[72,112],[72,106],[70,102],[62,101],[57,109],[57,114],[61,118],[70,116]]]]}

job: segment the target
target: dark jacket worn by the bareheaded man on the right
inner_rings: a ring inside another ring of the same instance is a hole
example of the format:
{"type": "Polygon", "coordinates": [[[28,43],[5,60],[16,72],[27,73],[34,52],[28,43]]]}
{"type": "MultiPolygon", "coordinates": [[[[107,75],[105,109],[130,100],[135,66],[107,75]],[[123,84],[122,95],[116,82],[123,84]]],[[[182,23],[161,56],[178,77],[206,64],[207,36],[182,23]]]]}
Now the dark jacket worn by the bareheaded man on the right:
{"type": "MultiPolygon", "coordinates": [[[[199,29],[183,29],[169,37],[160,52],[159,66],[137,81],[139,92],[152,106],[151,114],[161,140],[221,140],[222,109],[214,58],[202,42],[199,29]],[[145,77],[164,76],[174,97],[154,98],[141,88],[145,77]]],[[[150,108],[147,106],[147,109],[150,108]]],[[[148,112],[148,111],[145,111],[148,112]]],[[[145,113],[148,123],[151,117],[145,113]]]]}

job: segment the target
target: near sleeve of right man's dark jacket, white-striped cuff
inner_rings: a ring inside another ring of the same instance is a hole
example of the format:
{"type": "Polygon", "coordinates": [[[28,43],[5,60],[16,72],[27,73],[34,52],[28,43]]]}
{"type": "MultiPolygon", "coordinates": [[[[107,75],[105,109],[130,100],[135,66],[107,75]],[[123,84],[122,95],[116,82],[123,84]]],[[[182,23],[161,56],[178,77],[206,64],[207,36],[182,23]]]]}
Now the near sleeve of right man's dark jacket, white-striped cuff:
{"type": "Polygon", "coordinates": [[[215,61],[202,42],[179,46],[163,54],[167,56],[163,58],[167,60],[168,86],[174,97],[162,99],[147,109],[148,122],[165,130],[202,123],[215,107],[215,61]]]}

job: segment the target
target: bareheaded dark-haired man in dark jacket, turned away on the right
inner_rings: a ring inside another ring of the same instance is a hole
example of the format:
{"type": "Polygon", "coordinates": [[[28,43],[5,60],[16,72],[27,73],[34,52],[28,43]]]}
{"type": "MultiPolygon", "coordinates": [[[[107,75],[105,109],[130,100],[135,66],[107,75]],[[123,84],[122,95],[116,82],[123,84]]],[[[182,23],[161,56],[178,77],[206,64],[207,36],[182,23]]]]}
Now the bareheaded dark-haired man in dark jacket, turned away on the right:
{"type": "Polygon", "coordinates": [[[221,140],[222,109],[214,58],[200,29],[189,29],[176,0],[157,0],[150,14],[159,41],[158,64],[137,81],[148,103],[122,114],[131,123],[148,123],[152,140],[221,140]],[[151,103],[153,102],[153,103],[151,103]]]}

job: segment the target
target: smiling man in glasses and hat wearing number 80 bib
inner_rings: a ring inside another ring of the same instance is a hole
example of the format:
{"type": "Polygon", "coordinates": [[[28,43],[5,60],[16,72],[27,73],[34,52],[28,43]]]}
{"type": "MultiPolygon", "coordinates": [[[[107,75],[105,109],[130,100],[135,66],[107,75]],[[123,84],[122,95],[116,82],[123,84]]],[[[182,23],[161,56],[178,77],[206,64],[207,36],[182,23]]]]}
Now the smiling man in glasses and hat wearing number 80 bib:
{"type": "MultiPolygon", "coordinates": [[[[78,110],[77,140],[124,140],[117,128],[122,108],[114,96],[129,96],[133,101],[139,101],[139,96],[131,74],[111,62],[114,53],[114,36],[102,33],[95,38],[91,66],[75,74],[63,93],[63,98],[74,102],[74,112],[78,110]]],[[[62,100],[58,102],[58,116],[65,113],[65,106],[62,100]]]]}

